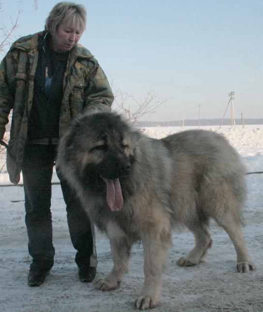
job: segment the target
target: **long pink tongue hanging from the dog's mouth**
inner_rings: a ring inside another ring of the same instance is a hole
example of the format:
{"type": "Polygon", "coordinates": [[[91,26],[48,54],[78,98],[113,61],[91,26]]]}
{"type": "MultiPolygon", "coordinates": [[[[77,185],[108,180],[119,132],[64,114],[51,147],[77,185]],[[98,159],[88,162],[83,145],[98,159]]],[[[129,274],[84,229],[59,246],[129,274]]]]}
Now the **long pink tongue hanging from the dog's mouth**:
{"type": "Polygon", "coordinates": [[[124,204],[124,199],[119,179],[103,178],[103,180],[107,184],[107,203],[109,208],[112,211],[120,210],[124,204]]]}

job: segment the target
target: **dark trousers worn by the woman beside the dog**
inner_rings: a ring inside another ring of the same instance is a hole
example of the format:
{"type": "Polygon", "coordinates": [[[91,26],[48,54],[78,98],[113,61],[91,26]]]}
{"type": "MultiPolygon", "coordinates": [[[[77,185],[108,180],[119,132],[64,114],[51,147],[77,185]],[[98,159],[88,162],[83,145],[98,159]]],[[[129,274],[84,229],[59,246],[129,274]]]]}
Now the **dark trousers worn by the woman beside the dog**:
{"type": "MultiPolygon", "coordinates": [[[[55,145],[28,144],[22,164],[25,191],[28,249],[33,259],[31,269],[50,269],[54,263],[52,243],[51,178],[56,158],[55,145]]],[[[75,192],[58,172],[66,203],[70,238],[77,250],[77,266],[89,266],[93,254],[91,222],[75,192]]],[[[94,256],[94,255],[93,255],[94,256]]],[[[94,266],[94,265],[92,265],[94,266]]]]}

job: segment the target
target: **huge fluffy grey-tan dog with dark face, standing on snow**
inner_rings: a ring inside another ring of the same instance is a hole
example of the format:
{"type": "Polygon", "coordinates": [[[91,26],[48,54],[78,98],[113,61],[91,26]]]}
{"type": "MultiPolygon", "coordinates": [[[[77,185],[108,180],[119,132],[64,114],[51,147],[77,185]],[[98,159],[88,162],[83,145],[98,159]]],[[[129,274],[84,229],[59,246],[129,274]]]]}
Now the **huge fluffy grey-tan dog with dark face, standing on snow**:
{"type": "Polygon", "coordinates": [[[86,114],[62,137],[57,166],[110,240],[114,265],[96,288],[119,287],[141,240],[145,281],[136,306],[155,307],[171,228],[181,223],[193,232],[195,247],[177,264],[196,265],[212,244],[209,218],[229,234],[237,270],[254,269],[241,229],[245,169],[221,135],[190,130],[155,140],[115,113],[86,114]]]}

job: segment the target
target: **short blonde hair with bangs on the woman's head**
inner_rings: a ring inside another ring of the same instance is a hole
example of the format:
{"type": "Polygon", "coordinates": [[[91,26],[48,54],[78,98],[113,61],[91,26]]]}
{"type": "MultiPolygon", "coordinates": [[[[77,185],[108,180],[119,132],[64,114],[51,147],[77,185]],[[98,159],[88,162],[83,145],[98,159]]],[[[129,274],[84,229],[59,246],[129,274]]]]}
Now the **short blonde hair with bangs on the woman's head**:
{"type": "Polygon", "coordinates": [[[45,30],[52,33],[60,25],[77,26],[81,31],[86,29],[87,12],[83,5],[74,2],[59,2],[50,11],[46,18],[45,30]]]}

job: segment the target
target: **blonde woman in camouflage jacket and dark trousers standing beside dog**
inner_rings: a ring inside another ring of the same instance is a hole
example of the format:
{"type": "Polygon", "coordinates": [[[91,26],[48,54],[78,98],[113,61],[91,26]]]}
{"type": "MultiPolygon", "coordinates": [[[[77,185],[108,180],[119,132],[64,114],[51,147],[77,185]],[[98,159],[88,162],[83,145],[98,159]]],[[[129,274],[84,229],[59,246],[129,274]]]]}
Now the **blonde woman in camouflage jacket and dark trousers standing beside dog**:
{"type": "MultiPolygon", "coordinates": [[[[45,31],[18,39],[0,64],[0,139],[13,109],[7,169],[15,184],[23,174],[30,286],[43,283],[54,262],[50,206],[58,140],[77,114],[110,110],[113,102],[98,62],[78,44],[85,25],[82,5],[57,3],[45,31]]],[[[73,190],[58,176],[79,278],[90,282],[97,264],[93,228],[73,190]]]]}

